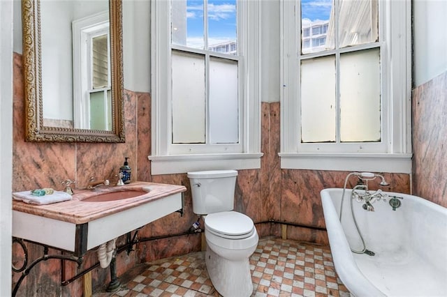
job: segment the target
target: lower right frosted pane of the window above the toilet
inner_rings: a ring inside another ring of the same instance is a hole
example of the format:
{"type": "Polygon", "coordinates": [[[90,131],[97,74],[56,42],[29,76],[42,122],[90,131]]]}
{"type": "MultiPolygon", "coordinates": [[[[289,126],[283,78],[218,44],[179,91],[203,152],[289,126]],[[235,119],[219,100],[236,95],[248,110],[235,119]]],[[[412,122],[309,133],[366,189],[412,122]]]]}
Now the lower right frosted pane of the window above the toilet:
{"type": "Polygon", "coordinates": [[[210,59],[210,142],[239,142],[237,61],[210,59]]]}

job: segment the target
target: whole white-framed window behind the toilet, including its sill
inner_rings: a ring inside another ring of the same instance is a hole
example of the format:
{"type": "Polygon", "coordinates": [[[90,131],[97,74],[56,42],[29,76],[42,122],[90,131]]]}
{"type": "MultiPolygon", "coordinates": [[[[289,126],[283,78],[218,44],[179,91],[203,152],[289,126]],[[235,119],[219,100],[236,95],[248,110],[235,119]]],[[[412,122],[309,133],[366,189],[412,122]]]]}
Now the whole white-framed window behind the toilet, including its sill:
{"type": "Polygon", "coordinates": [[[152,174],[260,167],[259,10],[152,0],[152,174]]]}

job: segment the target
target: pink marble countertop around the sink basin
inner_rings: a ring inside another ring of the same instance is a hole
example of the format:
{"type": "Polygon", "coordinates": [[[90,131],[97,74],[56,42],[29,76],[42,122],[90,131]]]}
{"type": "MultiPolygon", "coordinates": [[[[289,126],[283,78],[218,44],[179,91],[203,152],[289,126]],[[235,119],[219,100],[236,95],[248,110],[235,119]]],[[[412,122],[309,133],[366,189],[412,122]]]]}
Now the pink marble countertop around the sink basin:
{"type": "Polygon", "coordinates": [[[96,190],[74,190],[75,193],[73,194],[73,199],[54,204],[36,205],[13,200],[13,211],[40,215],[45,218],[52,218],[54,220],[71,222],[74,224],[84,224],[86,222],[105,217],[106,215],[112,215],[113,213],[118,213],[120,211],[184,191],[186,191],[184,185],[168,185],[163,183],[147,183],[137,181],[135,183],[129,183],[122,186],[100,187],[96,190]],[[115,201],[82,201],[82,199],[87,199],[89,197],[108,192],[141,189],[149,189],[149,192],[138,197],[115,201]]]}

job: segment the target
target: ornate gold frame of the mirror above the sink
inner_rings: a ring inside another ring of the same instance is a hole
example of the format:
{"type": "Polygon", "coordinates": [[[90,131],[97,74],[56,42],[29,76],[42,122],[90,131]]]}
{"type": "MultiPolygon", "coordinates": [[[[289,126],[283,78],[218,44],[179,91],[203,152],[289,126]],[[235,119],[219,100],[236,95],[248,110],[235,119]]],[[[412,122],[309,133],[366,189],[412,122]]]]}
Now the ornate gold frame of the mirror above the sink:
{"type": "Polygon", "coordinates": [[[110,0],[112,130],[50,127],[43,124],[41,1],[22,0],[25,141],[125,142],[122,54],[122,0],[110,0]]]}

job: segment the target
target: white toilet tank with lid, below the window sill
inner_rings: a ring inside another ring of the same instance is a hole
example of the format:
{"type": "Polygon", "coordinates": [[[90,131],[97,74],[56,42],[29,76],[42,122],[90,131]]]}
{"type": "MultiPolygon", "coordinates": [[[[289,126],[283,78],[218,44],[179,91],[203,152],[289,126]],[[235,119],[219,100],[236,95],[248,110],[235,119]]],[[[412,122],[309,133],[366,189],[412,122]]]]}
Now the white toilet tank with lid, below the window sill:
{"type": "Polygon", "coordinates": [[[237,171],[188,172],[188,178],[191,184],[193,213],[206,215],[233,210],[237,171]]]}

